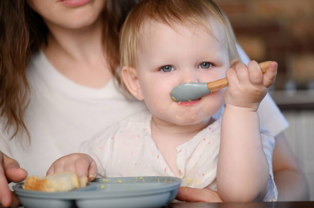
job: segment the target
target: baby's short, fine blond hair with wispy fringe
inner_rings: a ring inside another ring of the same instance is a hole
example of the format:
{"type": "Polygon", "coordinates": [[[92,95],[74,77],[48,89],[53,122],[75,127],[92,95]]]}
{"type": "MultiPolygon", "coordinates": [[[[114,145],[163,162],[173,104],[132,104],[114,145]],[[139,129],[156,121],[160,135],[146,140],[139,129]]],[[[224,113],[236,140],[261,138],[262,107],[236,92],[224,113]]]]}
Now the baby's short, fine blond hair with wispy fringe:
{"type": "MultiPolygon", "coordinates": [[[[158,21],[174,28],[175,24],[202,26],[210,30],[209,18],[221,26],[228,48],[229,60],[239,59],[235,36],[225,13],[211,0],[143,0],[128,14],[120,35],[120,68],[136,68],[136,54],[147,21],[158,21]]],[[[125,89],[121,70],[116,78],[125,89]]]]}

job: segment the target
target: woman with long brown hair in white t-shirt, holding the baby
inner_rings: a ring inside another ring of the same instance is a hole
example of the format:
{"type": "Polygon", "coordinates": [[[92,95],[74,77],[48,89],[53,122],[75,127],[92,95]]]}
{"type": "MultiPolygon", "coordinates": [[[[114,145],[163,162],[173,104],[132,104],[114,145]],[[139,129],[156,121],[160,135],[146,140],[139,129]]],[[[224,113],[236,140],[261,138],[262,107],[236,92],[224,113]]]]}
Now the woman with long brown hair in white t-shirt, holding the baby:
{"type": "MultiPolygon", "coordinates": [[[[134,2],[0,2],[4,31],[0,33],[0,199],[4,206],[18,204],[8,180],[23,180],[25,170],[44,175],[52,161],[77,151],[77,144],[104,126],[145,108],[126,100],[113,84],[120,26],[134,2]]],[[[269,96],[264,100],[261,109],[278,113],[269,96]]],[[[280,113],[260,114],[266,128],[272,126],[268,121],[279,119],[282,124],[272,130],[277,135],[273,170],[279,200],[306,200],[306,180],[282,133],[285,120],[280,113]],[[288,182],[290,177],[296,184],[288,182]]],[[[178,199],[220,200],[210,190],[189,188],[180,188],[178,199]]]]}

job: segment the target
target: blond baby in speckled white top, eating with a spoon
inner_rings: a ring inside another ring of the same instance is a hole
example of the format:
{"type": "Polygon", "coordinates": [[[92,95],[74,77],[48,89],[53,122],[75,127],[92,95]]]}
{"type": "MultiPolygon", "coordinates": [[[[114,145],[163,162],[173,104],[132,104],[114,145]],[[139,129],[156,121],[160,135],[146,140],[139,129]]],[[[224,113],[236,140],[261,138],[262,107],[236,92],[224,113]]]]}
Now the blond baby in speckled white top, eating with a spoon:
{"type": "Polygon", "coordinates": [[[277,199],[274,139],[260,129],[257,113],[276,62],[265,74],[255,61],[240,63],[229,21],[210,0],[141,1],[124,23],[120,45],[122,88],[149,111],[105,129],[47,174],[175,176],[224,201],[277,199]],[[171,99],[178,84],[225,76],[227,88],[199,100],[171,99]]]}

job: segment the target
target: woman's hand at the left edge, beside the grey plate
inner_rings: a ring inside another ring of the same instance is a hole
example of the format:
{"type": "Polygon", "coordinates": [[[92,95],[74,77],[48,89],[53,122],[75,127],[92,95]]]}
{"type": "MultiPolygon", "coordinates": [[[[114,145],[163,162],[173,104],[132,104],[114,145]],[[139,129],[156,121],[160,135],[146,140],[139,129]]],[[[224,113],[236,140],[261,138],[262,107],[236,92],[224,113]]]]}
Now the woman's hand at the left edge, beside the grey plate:
{"type": "Polygon", "coordinates": [[[21,182],[26,176],[26,170],[19,168],[16,160],[0,152],[0,204],[4,207],[19,205],[18,198],[10,191],[8,183],[21,182]]]}

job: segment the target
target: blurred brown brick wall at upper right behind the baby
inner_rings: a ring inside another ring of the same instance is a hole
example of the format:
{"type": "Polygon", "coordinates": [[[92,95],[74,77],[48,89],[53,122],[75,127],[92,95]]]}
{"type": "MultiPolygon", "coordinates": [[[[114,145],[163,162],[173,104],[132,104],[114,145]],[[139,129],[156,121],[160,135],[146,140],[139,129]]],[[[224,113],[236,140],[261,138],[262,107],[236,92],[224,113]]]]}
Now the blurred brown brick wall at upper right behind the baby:
{"type": "Polygon", "coordinates": [[[314,80],[314,0],[215,0],[251,59],[275,60],[275,88],[314,80]]]}

